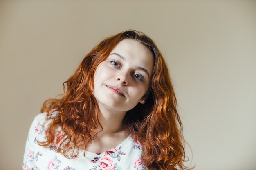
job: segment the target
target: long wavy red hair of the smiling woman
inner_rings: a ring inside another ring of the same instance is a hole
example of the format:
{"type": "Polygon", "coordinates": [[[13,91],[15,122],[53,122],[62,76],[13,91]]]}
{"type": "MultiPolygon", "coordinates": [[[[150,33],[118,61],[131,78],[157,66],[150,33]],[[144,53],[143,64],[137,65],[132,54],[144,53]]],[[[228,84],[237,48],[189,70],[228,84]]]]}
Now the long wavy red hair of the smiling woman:
{"type": "Polygon", "coordinates": [[[88,147],[97,135],[95,129],[102,129],[99,107],[92,94],[94,73],[99,63],[123,39],[140,42],[153,53],[155,59],[146,103],[138,103],[127,111],[123,120],[125,131],[143,146],[141,157],[148,169],[189,169],[183,164],[185,151],[182,123],[168,67],[153,40],[134,30],[118,33],[97,44],[84,57],[74,74],[63,83],[64,94],[61,99],[44,102],[41,111],[47,112],[47,122],[50,123],[45,129],[46,141],[38,144],[52,147],[65,157],[74,157],[79,150],[88,147]],[[53,110],[58,111],[56,116],[51,116],[53,110]],[[61,128],[62,137],[56,134],[58,128],[61,128]]]}

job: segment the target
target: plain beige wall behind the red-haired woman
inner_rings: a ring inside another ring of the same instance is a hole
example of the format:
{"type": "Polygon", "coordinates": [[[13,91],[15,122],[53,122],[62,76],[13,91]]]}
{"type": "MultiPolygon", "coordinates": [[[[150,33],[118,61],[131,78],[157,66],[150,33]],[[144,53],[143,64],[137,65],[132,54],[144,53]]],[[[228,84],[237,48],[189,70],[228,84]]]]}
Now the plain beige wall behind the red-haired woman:
{"type": "Polygon", "coordinates": [[[255,170],[255,0],[1,0],[1,170],[21,169],[34,116],[85,54],[130,28],[168,61],[195,169],[255,170]]]}

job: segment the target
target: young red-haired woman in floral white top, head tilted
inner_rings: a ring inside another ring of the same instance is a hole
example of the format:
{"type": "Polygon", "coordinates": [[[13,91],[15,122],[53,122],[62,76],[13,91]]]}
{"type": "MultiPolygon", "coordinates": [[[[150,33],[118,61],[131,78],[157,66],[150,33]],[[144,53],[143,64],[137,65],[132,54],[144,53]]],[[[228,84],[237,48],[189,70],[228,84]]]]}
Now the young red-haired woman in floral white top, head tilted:
{"type": "Polygon", "coordinates": [[[188,169],[168,68],[143,33],[101,41],[63,88],[31,125],[23,170],[188,169]]]}

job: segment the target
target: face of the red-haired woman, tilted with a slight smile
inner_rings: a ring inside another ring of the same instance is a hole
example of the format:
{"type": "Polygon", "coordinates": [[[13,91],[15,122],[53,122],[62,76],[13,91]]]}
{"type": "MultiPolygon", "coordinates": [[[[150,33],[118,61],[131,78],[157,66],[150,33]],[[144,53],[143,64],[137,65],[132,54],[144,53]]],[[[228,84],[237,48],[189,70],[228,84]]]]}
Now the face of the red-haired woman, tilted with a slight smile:
{"type": "Polygon", "coordinates": [[[101,111],[126,112],[146,100],[153,65],[153,54],[144,45],[132,39],[120,41],[94,74],[93,94],[101,111]]]}

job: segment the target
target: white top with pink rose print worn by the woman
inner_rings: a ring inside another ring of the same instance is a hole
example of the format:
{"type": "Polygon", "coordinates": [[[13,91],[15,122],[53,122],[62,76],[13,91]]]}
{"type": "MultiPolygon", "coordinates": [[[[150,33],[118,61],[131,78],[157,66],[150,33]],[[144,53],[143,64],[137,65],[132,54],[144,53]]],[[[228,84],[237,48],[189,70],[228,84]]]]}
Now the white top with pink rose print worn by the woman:
{"type": "MultiPolygon", "coordinates": [[[[56,113],[57,114],[57,113],[56,113]]],[[[32,122],[25,146],[23,170],[145,170],[141,160],[141,145],[131,136],[117,147],[103,153],[83,152],[70,158],[38,145],[36,139],[45,139],[43,123],[46,113],[32,122]]],[[[45,125],[47,126],[47,124],[45,125]]],[[[59,133],[58,135],[60,135],[59,133]]]]}

